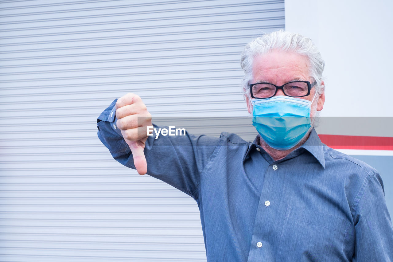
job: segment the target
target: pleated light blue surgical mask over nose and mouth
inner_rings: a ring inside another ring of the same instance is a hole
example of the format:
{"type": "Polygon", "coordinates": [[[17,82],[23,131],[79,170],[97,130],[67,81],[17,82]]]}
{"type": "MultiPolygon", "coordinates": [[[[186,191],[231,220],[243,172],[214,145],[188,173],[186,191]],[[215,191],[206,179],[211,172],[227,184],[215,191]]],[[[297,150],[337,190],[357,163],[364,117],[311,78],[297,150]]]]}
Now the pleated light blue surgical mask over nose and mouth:
{"type": "Polygon", "coordinates": [[[274,96],[253,99],[251,102],[252,124],[266,144],[274,149],[293,148],[311,128],[312,101],[290,96],[274,96]]]}

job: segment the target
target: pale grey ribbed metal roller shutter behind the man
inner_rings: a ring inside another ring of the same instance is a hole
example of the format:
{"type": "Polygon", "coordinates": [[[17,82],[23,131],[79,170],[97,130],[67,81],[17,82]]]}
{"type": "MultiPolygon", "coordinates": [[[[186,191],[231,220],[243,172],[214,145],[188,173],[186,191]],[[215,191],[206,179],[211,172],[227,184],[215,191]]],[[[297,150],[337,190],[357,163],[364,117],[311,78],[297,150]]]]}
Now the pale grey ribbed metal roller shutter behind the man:
{"type": "Polygon", "coordinates": [[[240,53],[284,27],[284,1],[6,0],[0,15],[0,260],[205,261],[195,201],[114,161],[95,119],[127,92],[153,116],[244,116],[240,53]]]}

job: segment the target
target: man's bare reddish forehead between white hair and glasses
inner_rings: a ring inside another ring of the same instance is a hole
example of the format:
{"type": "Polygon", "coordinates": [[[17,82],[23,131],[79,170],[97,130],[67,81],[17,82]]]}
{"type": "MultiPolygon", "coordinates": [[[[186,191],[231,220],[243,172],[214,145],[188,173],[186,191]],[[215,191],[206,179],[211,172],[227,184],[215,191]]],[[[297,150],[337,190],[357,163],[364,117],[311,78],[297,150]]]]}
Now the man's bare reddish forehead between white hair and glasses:
{"type": "Polygon", "coordinates": [[[288,81],[309,81],[309,61],[304,55],[273,50],[253,61],[253,82],[282,85],[288,81]]]}

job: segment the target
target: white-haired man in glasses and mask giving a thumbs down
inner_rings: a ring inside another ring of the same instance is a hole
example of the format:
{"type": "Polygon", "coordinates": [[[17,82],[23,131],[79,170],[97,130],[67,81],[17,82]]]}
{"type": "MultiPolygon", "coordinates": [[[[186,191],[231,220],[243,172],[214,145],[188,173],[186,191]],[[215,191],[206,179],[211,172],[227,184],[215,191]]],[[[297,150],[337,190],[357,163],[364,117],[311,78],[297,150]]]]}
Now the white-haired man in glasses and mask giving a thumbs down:
{"type": "Polygon", "coordinates": [[[312,128],[325,95],[311,40],[264,35],[241,64],[253,142],[225,132],[150,137],[151,115],[134,94],[99,116],[99,138],[117,161],[196,200],[208,261],[392,261],[379,173],[312,128]]]}

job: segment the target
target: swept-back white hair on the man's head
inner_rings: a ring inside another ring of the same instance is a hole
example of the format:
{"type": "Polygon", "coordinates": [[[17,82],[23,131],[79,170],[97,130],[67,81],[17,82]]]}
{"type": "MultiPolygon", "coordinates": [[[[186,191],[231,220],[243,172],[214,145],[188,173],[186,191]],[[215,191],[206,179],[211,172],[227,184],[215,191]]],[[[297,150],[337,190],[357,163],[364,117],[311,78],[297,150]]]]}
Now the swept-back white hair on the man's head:
{"type": "Polygon", "coordinates": [[[242,89],[245,98],[250,98],[249,85],[253,79],[252,66],[254,57],[266,54],[272,50],[294,52],[307,57],[310,66],[310,77],[316,81],[315,90],[317,95],[325,89],[325,86],[321,85],[325,61],[323,61],[320,52],[311,39],[296,33],[279,30],[258,37],[254,41],[249,42],[244,48],[241,56],[241,66],[244,71],[242,89]]]}

